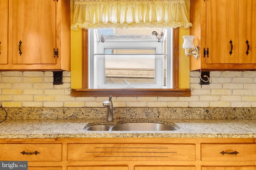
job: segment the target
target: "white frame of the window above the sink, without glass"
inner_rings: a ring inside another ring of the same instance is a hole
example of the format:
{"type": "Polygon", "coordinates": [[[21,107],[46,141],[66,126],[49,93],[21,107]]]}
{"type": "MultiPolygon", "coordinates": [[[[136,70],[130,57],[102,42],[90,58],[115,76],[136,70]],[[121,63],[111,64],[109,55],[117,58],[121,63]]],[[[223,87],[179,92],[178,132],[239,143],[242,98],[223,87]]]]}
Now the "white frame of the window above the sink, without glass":
{"type": "MultiPolygon", "coordinates": [[[[166,29],[164,35],[171,36],[167,39],[166,63],[163,55],[155,57],[155,83],[105,83],[104,50],[105,49],[155,49],[156,54],[162,54],[163,43],[152,43],[152,41],[99,41],[96,31],[89,29],[89,88],[172,88],[172,29],[166,29]],[[97,39],[94,39],[94,37],[97,39]],[[93,42],[93,43],[92,43],[93,42]],[[92,50],[94,49],[94,50],[92,50]],[[100,54],[100,55],[99,55],[100,54]],[[102,57],[95,57],[102,56],[102,57]],[[160,57],[159,57],[160,56],[160,57]],[[98,59],[96,59],[98,58],[98,59]],[[166,64],[166,86],[164,85],[164,64],[166,64]]],[[[163,37],[163,39],[166,37],[163,37]]],[[[125,55],[124,55],[125,56],[125,55]]],[[[148,55],[150,56],[150,55],[148,55]]],[[[153,55],[151,55],[153,56],[153,55]]]]}

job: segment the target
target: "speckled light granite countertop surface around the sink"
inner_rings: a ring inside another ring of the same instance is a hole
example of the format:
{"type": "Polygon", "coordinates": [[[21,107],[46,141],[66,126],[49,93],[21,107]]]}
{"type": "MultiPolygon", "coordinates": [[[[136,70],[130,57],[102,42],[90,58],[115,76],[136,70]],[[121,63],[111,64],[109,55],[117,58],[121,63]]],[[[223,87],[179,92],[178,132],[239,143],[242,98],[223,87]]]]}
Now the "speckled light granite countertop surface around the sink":
{"type": "Polygon", "coordinates": [[[256,120],[212,119],[6,119],[0,123],[0,138],[255,138],[256,120]],[[86,131],[89,125],[122,122],[175,123],[176,131],[86,131]]]}

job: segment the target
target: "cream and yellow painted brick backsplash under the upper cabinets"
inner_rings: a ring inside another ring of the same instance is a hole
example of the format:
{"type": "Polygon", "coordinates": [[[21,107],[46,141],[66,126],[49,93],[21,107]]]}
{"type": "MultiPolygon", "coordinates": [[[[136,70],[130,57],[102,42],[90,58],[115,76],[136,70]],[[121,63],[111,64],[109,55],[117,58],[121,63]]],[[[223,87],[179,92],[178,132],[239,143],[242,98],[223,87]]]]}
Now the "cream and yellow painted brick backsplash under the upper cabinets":
{"type": "MultiPolygon", "coordinates": [[[[114,107],[256,107],[256,72],[212,71],[200,85],[200,72],[190,72],[190,97],[113,97],[114,107]]],[[[70,72],[53,85],[53,72],[0,72],[2,107],[103,107],[107,97],[71,97],[70,72]]]]}

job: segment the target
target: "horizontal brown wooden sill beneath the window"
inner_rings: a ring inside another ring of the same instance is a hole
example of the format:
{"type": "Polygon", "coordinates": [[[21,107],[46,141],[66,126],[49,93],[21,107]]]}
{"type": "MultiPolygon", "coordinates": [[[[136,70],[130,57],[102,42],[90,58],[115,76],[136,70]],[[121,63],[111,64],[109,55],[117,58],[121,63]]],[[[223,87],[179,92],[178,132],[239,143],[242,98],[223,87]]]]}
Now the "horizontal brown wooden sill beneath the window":
{"type": "Polygon", "coordinates": [[[190,89],[71,89],[73,97],[190,97],[190,89]]]}

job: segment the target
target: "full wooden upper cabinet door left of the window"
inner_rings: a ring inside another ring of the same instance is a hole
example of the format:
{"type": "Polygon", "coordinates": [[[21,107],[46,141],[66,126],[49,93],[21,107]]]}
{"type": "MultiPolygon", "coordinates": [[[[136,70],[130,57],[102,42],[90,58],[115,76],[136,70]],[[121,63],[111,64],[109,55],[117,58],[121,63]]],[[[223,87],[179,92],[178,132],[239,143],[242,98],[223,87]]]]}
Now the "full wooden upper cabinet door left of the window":
{"type": "Polygon", "coordinates": [[[14,64],[56,63],[55,9],[53,0],[13,0],[14,64]]]}

